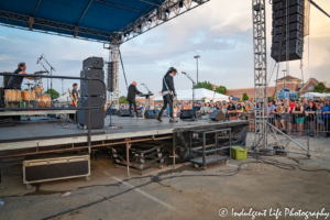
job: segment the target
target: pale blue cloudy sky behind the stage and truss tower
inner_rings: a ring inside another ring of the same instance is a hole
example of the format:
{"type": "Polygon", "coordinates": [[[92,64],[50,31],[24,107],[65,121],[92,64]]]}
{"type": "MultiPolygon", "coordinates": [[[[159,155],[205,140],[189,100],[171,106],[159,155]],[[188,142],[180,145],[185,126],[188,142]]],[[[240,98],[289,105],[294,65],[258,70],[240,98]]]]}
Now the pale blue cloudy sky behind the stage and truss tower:
{"type": "MultiPolygon", "coordinates": [[[[317,3],[330,12],[328,0],[317,3]]],[[[271,54],[272,8],[267,2],[268,76],[274,61],[271,54]]],[[[311,8],[310,36],[305,37],[304,78],[316,77],[330,82],[330,19],[311,8]],[[309,43],[308,43],[309,42],[309,43]],[[309,48],[309,50],[308,50],[309,48]],[[309,58],[308,58],[309,57],[309,58]]],[[[251,0],[211,0],[121,46],[129,84],[144,82],[153,92],[162,88],[162,77],[174,66],[196,79],[195,55],[200,55],[199,80],[208,80],[227,88],[253,87],[253,48],[251,0]]],[[[13,72],[16,64],[25,62],[28,73],[42,70],[36,59],[45,54],[57,76],[79,76],[82,61],[101,56],[108,61],[109,51],[100,43],[67,38],[0,26],[0,70],[13,72]]],[[[301,78],[300,62],[290,62],[290,75],[301,78]]],[[[279,73],[285,69],[280,64],[279,73]]],[[[120,69],[120,91],[125,95],[125,84],[120,69]]],[[[271,79],[274,85],[275,73],[271,79]]],[[[24,82],[28,80],[25,79],[24,82]]],[[[45,82],[45,80],[44,80],[45,82]]],[[[64,91],[74,80],[64,82],[64,91]]],[[[177,89],[191,88],[184,75],[175,78],[177,89]]],[[[62,91],[61,80],[53,87],[62,91]]]]}

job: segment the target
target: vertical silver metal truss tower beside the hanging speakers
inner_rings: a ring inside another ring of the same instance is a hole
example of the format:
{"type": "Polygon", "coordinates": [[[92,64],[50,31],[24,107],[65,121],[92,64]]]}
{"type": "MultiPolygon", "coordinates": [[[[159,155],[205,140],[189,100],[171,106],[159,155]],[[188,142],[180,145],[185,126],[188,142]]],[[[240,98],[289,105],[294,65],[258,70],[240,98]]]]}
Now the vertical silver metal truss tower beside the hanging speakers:
{"type": "Polygon", "coordinates": [[[252,0],[254,97],[254,147],[267,148],[267,46],[265,0],[252,0]]]}

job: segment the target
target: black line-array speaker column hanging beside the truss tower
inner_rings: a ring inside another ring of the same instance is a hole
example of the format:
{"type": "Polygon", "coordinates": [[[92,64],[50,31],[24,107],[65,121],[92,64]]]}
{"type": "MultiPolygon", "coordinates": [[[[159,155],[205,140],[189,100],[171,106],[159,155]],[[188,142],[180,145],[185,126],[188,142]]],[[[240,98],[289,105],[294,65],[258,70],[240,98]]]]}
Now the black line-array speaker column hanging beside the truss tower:
{"type": "Polygon", "coordinates": [[[271,56],[276,62],[302,59],[304,1],[273,0],[271,56]]]}

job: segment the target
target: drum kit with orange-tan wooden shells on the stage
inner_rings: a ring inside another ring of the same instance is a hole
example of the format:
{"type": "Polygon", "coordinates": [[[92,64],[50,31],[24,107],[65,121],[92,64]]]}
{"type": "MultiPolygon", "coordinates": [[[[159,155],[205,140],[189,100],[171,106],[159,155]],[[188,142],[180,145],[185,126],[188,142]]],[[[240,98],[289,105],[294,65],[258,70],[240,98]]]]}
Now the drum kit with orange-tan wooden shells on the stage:
{"type": "MultiPolygon", "coordinates": [[[[34,74],[45,74],[47,72],[35,72],[34,74]]],[[[4,103],[8,108],[20,107],[21,101],[24,101],[24,107],[46,108],[52,106],[50,94],[43,94],[43,81],[40,77],[34,78],[34,84],[25,84],[28,89],[24,91],[15,89],[4,90],[4,103]]]]}

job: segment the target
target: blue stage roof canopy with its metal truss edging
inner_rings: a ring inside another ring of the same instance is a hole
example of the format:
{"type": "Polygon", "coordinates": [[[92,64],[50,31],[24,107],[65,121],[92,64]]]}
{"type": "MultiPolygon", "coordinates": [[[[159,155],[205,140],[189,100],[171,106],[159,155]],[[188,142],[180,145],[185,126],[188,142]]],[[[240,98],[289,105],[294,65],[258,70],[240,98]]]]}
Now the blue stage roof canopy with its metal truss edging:
{"type": "Polygon", "coordinates": [[[121,44],[209,0],[0,1],[0,24],[121,44]]]}

